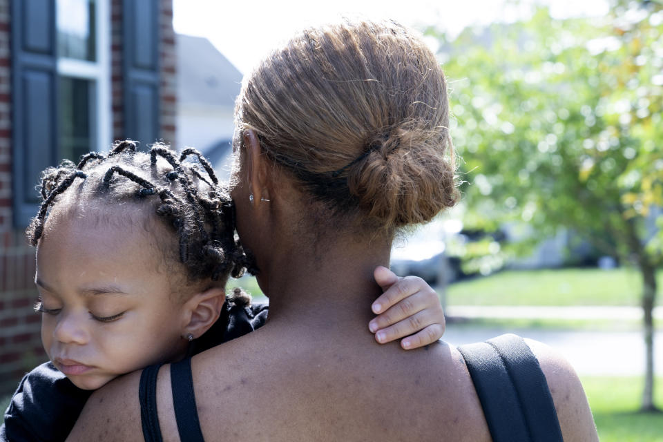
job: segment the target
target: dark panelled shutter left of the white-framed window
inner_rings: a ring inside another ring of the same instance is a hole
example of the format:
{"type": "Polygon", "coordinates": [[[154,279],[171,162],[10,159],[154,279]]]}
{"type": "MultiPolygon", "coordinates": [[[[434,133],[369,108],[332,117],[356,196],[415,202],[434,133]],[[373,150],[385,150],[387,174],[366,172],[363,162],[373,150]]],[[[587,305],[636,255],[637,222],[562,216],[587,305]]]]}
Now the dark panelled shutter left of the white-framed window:
{"type": "Polygon", "coordinates": [[[12,0],[14,224],[37,214],[39,173],[57,162],[55,1],[12,0]]]}

